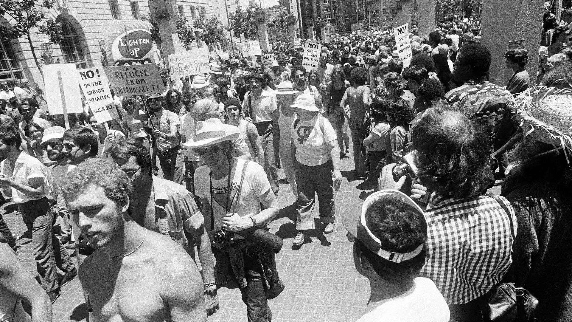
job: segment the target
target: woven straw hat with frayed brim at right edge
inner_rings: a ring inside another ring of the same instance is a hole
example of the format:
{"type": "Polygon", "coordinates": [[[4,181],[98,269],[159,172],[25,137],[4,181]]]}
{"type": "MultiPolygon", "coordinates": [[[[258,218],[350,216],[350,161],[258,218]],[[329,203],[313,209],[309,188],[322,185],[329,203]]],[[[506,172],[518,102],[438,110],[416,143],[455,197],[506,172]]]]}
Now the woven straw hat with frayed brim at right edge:
{"type": "Polygon", "coordinates": [[[572,155],[572,90],[537,85],[509,102],[525,136],[572,155]]]}

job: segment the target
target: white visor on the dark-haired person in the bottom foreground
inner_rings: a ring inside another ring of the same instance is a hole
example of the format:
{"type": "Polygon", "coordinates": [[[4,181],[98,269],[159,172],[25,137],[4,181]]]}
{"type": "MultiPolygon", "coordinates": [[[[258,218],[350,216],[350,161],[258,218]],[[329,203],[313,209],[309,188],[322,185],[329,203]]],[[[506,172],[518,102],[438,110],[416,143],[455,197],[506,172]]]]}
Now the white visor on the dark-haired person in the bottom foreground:
{"type": "Polygon", "coordinates": [[[345,210],[341,215],[342,225],[344,225],[344,228],[348,233],[352,234],[353,237],[362,242],[367,249],[371,250],[372,253],[377,254],[379,257],[396,263],[415,258],[423,250],[423,243],[408,253],[389,252],[388,250],[382,249],[382,242],[378,237],[376,237],[376,235],[374,235],[374,233],[372,233],[370,227],[367,226],[367,210],[374,202],[378,202],[380,200],[394,201],[395,203],[406,203],[406,205],[414,207],[415,210],[423,213],[421,207],[401,191],[381,190],[376,191],[367,197],[362,206],[354,205],[345,210]]]}

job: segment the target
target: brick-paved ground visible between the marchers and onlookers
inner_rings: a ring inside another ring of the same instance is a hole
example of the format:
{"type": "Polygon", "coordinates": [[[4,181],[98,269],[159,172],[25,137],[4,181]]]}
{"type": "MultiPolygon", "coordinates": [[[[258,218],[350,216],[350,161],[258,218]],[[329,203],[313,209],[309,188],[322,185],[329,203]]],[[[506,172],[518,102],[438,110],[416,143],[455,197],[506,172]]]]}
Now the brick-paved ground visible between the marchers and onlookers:
{"type": "MultiPolygon", "coordinates": [[[[353,159],[344,159],[341,170],[344,180],[336,195],[337,214],[348,206],[360,203],[372,189],[359,189],[362,180],[353,180],[353,159]],[[349,176],[349,178],[348,178],[349,176]],[[349,180],[348,180],[349,179],[349,180]]],[[[280,178],[284,176],[280,173],[280,178]]],[[[286,183],[281,179],[280,183],[286,183]]],[[[492,190],[499,193],[498,187],[492,190]]],[[[301,248],[292,245],[295,236],[295,198],[287,184],[280,184],[279,217],[271,224],[272,233],[284,238],[284,246],[276,255],[276,262],[286,288],[276,299],[270,300],[273,321],[349,322],[355,321],[366,307],[369,285],[353,266],[351,243],[344,228],[337,221],[331,234],[314,233],[311,242],[301,248]]],[[[31,239],[13,203],[6,203],[1,211],[11,231],[19,236],[18,257],[36,274],[31,239]]],[[[317,217],[317,208],[315,209],[317,217]]],[[[321,226],[323,227],[323,226],[321,226]]],[[[71,253],[71,251],[70,251],[71,253]]],[[[75,257],[74,257],[75,258],[75,257]]],[[[246,322],[247,312],[239,290],[219,290],[220,311],[209,317],[209,322],[246,322]]],[[[76,278],[63,286],[61,296],[53,306],[54,321],[85,321],[87,310],[81,284],[76,278]]]]}

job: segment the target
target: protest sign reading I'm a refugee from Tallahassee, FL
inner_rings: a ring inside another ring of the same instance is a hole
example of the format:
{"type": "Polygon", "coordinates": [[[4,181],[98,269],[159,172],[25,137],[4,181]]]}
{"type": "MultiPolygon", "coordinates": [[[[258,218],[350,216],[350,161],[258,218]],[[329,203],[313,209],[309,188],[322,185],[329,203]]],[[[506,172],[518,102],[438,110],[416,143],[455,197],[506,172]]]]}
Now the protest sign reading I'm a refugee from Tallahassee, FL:
{"type": "Polygon", "coordinates": [[[155,64],[104,67],[111,89],[118,96],[137,96],[165,90],[155,64]]]}

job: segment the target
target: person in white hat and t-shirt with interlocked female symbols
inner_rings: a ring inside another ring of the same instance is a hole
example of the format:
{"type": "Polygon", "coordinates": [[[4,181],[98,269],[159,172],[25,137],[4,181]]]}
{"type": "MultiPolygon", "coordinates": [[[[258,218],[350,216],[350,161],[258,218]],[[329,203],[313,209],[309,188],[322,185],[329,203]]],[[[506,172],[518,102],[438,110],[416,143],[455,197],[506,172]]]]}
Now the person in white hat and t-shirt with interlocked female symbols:
{"type": "Polygon", "coordinates": [[[318,198],[320,220],[325,223],[324,233],[334,229],[336,208],[333,197],[333,180],[341,180],[340,148],[332,125],[321,116],[312,95],[302,94],[292,105],[296,108],[296,120],[290,133],[292,163],[296,172],[298,189],[298,218],[294,245],[307,241],[309,230],[314,229],[312,209],[318,198]]]}

